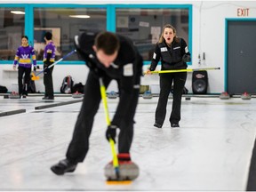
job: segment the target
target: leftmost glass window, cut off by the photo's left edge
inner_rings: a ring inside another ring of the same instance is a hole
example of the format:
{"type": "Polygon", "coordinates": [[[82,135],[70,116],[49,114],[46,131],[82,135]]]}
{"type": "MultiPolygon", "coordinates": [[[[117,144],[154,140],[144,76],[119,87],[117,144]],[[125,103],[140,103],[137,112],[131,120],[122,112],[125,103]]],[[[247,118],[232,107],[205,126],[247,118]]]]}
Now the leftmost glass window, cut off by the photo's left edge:
{"type": "Polygon", "coordinates": [[[23,8],[0,8],[0,60],[13,60],[24,35],[23,8]]]}

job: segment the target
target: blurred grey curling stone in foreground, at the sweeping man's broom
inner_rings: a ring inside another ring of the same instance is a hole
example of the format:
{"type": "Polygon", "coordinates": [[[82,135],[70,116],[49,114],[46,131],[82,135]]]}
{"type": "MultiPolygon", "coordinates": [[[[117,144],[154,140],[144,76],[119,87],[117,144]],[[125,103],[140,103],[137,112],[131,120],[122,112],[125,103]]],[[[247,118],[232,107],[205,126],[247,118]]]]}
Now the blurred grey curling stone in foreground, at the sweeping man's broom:
{"type": "Polygon", "coordinates": [[[119,164],[119,178],[116,177],[116,170],[112,162],[104,168],[104,173],[108,180],[135,180],[139,176],[139,172],[139,166],[133,162],[119,164]]]}

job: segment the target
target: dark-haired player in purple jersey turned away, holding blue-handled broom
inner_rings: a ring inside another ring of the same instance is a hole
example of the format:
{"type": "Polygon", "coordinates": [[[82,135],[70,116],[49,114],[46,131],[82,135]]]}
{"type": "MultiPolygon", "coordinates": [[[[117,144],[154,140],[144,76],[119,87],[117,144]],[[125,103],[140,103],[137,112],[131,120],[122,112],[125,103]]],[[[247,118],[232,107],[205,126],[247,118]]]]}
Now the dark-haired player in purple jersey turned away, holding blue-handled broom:
{"type": "Polygon", "coordinates": [[[44,40],[46,46],[44,47],[44,98],[43,100],[54,100],[53,83],[52,83],[52,71],[53,68],[47,68],[51,66],[55,61],[56,47],[52,42],[52,33],[46,32],[44,34],[44,40]]]}

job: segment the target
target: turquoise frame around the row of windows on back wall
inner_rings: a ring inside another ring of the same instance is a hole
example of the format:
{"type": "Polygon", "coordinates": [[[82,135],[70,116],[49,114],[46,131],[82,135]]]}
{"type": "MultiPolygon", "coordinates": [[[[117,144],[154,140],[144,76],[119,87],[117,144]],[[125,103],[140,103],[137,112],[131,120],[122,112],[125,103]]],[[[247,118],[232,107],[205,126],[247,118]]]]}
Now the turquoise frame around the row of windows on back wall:
{"type": "MultiPolygon", "coordinates": [[[[35,8],[105,8],[107,12],[106,30],[116,32],[116,9],[188,9],[188,49],[192,57],[192,4],[0,4],[0,8],[24,8],[25,26],[24,34],[28,39],[34,39],[34,9],[35,8]]],[[[34,42],[31,42],[34,45],[34,42]]],[[[71,50],[70,50],[71,52],[71,50]]],[[[36,60],[43,64],[42,60],[36,60]]],[[[150,64],[150,60],[145,60],[144,65],[150,64]]],[[[12,64],[13,60],[0,60],[0,64],[12,64]]],[[[84,65],[84,61],[61,60],[60,65],[84,65]]],[[[192,65],[192,62],[188,62],[192,65]]]]}

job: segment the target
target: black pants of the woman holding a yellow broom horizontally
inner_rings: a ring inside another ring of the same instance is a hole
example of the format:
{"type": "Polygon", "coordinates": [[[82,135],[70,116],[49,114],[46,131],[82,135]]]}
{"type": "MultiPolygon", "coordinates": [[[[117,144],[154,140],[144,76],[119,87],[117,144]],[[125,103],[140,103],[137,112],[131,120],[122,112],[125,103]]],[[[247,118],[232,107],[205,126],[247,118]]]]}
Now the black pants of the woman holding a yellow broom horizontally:
{"type": "Polygon", "coordinates": [[[181,97],[186,80],[187,72],[160,74],[160,95],[156,107],[156,124],[164,124],[164,119],[166,116],[166,105],[168,102],[168,96],[171,92],[172,82],[172,113],[169,120],[172,124],[178,124],[180,122],[181,97]]]}

